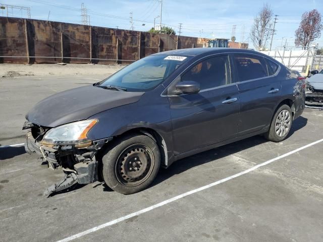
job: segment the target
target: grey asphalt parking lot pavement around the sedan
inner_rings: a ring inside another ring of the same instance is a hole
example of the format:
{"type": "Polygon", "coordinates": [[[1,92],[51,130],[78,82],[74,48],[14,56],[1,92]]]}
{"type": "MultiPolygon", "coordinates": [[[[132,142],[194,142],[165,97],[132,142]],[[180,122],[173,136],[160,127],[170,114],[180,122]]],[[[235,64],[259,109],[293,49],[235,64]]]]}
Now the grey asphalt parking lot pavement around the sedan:
{"type": "Polygon", "coordinates": [[[281,143],[256,136],[179,160],[137,194],[96,183],[45,198],[63,174],[19,146],[24,115],[102,78],[0,79],[0,143],[18,144],[0,148],[1,241],[323,241],[320,110],[305,109],[281,143]]]}

